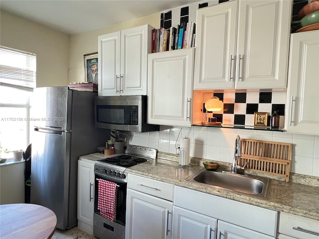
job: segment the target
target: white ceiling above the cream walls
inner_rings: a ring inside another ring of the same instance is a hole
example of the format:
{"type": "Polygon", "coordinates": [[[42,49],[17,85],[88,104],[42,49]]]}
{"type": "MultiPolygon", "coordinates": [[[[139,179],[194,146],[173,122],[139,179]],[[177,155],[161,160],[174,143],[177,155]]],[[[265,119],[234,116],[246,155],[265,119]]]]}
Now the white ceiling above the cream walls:
{"type": "Polygon", "coordinates": [[[55,30],[76,34],[198,0],[0,0],[0,8],[55,30]]]}

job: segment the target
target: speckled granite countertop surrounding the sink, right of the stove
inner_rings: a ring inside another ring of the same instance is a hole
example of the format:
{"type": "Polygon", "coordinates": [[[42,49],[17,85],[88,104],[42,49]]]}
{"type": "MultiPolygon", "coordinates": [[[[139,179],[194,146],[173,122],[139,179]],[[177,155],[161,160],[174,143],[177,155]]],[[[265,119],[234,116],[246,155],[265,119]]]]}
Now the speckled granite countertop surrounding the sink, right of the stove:
{"type": "Polygon", "coordinates": [[[279,212],[319,220],[319,187],[272,179],[269,198],[258,199],[184,181],[202,168],[202,166],[180,168],[178,161],[159,158],[157,163],[156,160],[150,160],[129,167],[126,172],[279,212]]]}

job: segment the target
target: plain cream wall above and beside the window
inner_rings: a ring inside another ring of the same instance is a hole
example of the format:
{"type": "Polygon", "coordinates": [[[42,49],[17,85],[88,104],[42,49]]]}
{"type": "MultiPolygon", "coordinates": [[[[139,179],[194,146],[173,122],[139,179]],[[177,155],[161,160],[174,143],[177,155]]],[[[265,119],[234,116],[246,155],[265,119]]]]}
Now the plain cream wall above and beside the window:
{"type": "Polygon", "coordinates": [[[69,36],[1,9],[0,45],[36,54],[36,86],[67,86],[69,36]]]}

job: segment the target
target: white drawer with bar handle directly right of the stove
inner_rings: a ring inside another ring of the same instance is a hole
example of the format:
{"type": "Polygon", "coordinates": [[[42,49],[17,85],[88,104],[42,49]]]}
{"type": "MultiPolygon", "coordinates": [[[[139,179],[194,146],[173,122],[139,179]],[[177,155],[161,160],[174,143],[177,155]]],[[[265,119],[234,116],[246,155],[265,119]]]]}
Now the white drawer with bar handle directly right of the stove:
{"type": "Polygon", "coordinates": [[[174,186],[169,183],[128,174],[128,188],[173,201],[174,186]]]}

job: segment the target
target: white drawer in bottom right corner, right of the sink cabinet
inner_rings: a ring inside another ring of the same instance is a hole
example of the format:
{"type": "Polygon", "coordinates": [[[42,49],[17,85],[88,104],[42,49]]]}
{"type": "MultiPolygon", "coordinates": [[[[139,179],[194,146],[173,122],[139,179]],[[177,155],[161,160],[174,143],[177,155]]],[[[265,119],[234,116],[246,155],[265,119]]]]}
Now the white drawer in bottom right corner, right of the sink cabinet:
{"type": "Polygon", "coordinates": [[[319,221],[287,213],[280,213],[279,233],[295,238],[319,239],[319,221]],[[296,230],[298,227],[299,230],[296,230]]]}

